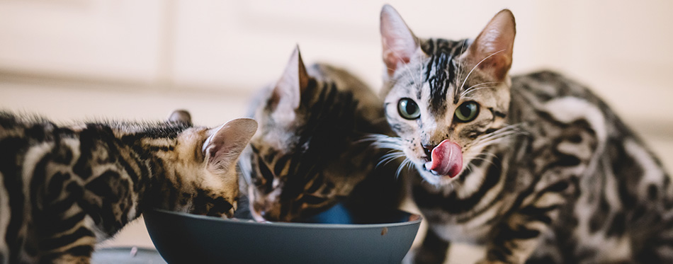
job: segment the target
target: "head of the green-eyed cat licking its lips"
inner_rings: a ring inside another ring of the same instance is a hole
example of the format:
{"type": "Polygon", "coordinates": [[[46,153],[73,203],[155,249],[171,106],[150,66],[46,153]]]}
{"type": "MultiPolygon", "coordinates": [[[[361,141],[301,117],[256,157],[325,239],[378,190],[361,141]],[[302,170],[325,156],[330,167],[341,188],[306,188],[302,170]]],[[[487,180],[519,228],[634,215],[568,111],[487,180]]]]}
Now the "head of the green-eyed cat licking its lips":
{"type": "Polygon", "coordinates": [[[417,38],[381,11],[385,113],[399,150],[434,185],[451,183],[507,134],[514,16],[497,13],[474,40],[417,38]]]}

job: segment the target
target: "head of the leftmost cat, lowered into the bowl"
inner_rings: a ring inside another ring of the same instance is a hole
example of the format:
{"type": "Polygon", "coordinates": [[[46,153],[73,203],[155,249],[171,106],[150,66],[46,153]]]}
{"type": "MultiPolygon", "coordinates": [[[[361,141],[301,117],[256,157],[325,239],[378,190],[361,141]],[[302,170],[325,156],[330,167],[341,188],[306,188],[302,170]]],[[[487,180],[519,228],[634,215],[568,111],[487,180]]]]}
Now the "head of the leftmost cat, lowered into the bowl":
{"type": "Polygon", "coordinates": [[[189,113],[177,110],[167,126],[166,130],[186,128],[169,142],[146,139],[146,148],[155,149],[163,165],[164,190],[158,190],[158,196],[175,193],[157,202],[170,210],[233,217],[239,194],[236,164],[256,131],[256,121],[238,118],[215,128],[193,127],[189,113]]]}

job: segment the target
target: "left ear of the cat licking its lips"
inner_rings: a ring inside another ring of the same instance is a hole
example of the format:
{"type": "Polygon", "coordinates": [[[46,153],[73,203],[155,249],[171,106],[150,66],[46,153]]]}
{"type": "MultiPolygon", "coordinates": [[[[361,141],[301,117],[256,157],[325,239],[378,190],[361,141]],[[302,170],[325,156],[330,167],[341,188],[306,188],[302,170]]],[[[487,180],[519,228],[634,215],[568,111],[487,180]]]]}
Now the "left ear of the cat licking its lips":
{"type": "Polygon", "coordinates": [[[388,76],[395,73],[400,64],[409,63],[418,50],[418,39],[409,30],[395,8],[385,4],[381,8],[381,45],[383,45],[383,62],[388,67],[388,76]]]}

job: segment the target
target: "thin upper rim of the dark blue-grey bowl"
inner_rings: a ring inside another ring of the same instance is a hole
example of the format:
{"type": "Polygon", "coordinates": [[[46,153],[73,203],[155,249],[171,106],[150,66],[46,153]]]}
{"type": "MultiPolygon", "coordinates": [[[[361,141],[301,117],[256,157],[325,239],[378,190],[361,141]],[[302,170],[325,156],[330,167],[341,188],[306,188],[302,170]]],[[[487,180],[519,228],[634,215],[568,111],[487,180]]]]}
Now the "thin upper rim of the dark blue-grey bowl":
{"type": "MultiPolygon", "coordinates": [[[[210,217],[207,215],[200,214],[189,214],[186,212],[175,212],[171,210],[164,210],[159,208],[150,208],[145,210],[145,212],[155,211],[163,214],[173,214],[179,217],[189,217],[192,219],[201,219],[212,222],[228,222],[231,224],[240,224],[240,225],[249,225],[249,226],[276,226],[283,228],[310,228],[310,229],[368,229],[368,228],[383,228],[383,227],[395,227],[395,226],[407,226],[413,224],[419,224],[423,217],[419,214],[414,214],[404,210],[399,210],[400,212],[405,212],[409,214],[409,220],[405,222],[390,222],[390,223],[377,223],[377,224],[322,224],[322,223],[298,223],[298,222],[249,222],[247,219],[234,220],[228,218],[220,217],[210,217]]],[[[143,212],[143,217],[145,218],[145,212],[143,212]]]]}

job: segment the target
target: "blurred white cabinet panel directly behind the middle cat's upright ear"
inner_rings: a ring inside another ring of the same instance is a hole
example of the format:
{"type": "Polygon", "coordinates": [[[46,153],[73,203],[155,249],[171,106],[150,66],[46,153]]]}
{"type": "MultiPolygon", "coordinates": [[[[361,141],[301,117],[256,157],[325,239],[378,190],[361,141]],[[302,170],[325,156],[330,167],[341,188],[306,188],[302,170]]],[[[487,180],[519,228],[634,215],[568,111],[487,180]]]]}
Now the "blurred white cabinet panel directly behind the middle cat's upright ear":
{"type": "Polygon", "coordinates": [[[299,45],[307,63],[329,61],[380,83],[379,8],[366,1],[177,1],[174,80],[249,91],[276,81],[299,45]]]}

